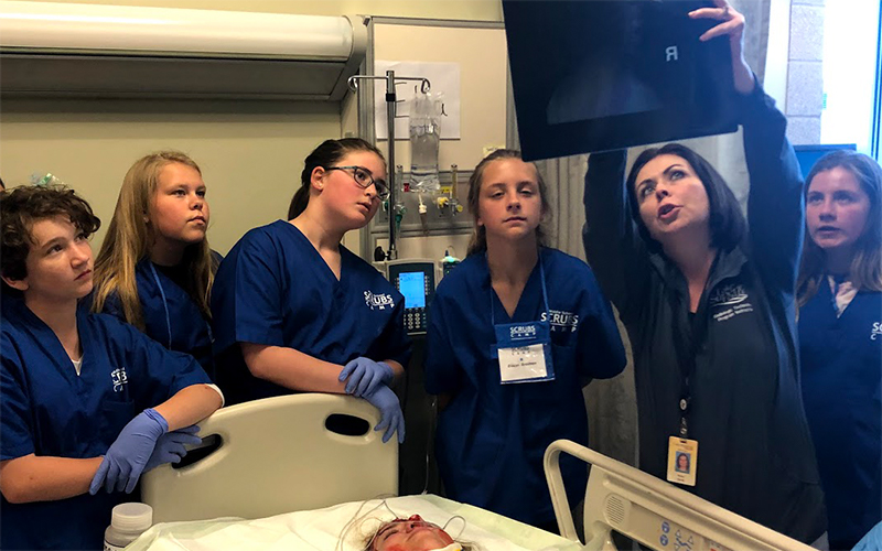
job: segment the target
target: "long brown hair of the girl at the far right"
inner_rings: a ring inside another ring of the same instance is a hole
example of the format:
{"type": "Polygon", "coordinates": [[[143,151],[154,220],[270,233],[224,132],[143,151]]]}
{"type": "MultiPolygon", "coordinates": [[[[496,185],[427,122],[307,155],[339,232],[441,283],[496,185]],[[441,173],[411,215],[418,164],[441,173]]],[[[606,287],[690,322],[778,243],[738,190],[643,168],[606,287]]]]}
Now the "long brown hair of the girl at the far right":
{"type": "MultiPolygon", "coordinates": [[[[815,163],[806,179],[805,193],[808,196],[811,181],[821,172],[842,168],[854,175],[863,192],[870,197],[870,212],[867,226],[854,242],[854,258],[851,259],[849,280],[857,289],[882,291],[882,169],[872,158],[857,151],[831,151],[815,163]]],[[[806,304],[824,279],[824,249],[815,244],[806,230],[799,277],[796,280],[796,296],[800,306],[806,304]]]]}

